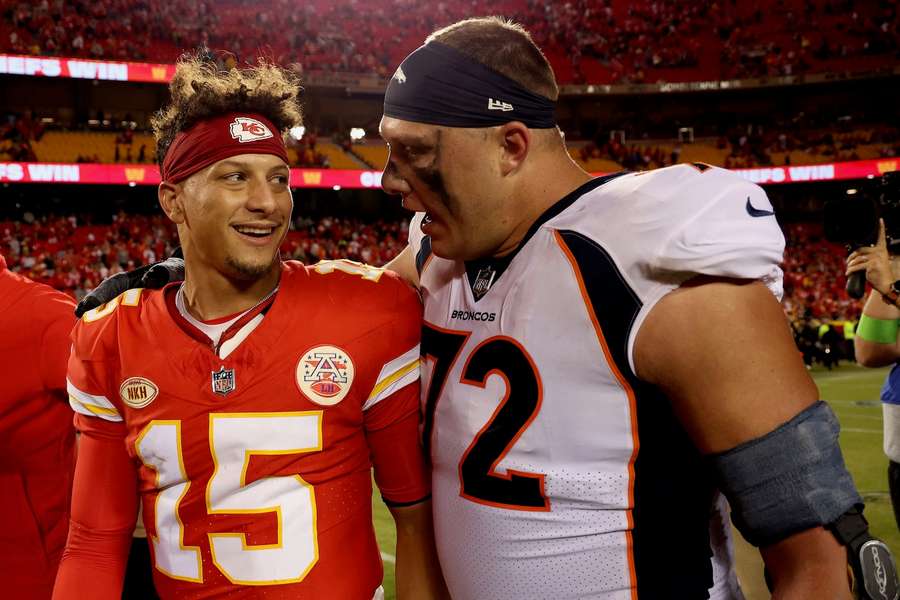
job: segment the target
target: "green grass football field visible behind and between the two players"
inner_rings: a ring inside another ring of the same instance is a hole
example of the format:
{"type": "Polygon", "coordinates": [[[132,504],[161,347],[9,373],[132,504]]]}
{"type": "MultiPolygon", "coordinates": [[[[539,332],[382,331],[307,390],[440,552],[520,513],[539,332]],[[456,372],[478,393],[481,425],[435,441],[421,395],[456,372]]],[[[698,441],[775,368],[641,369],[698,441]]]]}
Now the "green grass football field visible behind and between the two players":
{"type": "MultiPolygon", "coordinates": [[[[894,522],[887,487],[887,458],[882,452],[879,392],[888,369],[843,366],[834,371],[816,370],[813,377],[823,400],[831,404],[841,421],[841,447],[856,486],[866,502],[872,532],[900,553],[900,531],[894,522]]],[[[375,528],[384,562],[385,598],[394,598],[394,525],[380,500],[374,501],[375,528]]],[[[738,572],[747,600],[768,598],[758,572],[759,555],[738,544],[738,572]]]]}

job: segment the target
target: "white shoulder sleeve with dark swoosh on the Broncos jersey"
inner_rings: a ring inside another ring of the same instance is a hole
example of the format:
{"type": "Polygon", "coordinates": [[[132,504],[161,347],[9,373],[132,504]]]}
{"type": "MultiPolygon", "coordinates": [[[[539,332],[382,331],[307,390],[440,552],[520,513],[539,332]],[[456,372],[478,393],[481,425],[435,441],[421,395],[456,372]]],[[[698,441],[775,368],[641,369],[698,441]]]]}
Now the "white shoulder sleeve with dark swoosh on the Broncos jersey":
{"type": "Polygon", "coordinates": [[[784,235],[759,186],[725,169],[680,164],[617,177],[554,219],[603,247],[640,301],[634,339],[659,300],[698,276],[759,280],[782,295],[784,235]]]}

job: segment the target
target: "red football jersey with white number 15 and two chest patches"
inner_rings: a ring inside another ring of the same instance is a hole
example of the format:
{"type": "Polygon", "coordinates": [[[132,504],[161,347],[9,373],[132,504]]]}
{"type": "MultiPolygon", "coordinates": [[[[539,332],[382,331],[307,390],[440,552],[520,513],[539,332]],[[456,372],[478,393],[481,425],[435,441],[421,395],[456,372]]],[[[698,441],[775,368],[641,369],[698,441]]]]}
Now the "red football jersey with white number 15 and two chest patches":
{"type": "Polygon", "coordinates": [[[217,354],[175,291],[85,314],[69,362],[77,426],[121,437],[138,469],[159,595],[369,600],[373,463],[387,502],[430,494],[415,426],[372,443],[417,420],[418,297],[381,269],[287,262],[217,354]]]}

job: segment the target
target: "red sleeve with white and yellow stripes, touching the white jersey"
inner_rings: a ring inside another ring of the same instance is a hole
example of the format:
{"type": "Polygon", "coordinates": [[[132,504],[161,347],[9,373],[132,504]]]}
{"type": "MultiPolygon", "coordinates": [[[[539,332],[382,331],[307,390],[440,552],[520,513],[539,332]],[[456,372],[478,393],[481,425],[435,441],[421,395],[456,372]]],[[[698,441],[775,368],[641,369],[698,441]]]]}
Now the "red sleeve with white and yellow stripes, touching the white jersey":
{"type": "Polygon", "coordinates": [[[431,480],[418,430],[422,305],[408,285],[394,285],[394,319],[377,336],[384,361],[363,411],[375,483],[385,502],[398,506],[429,498],[431,480]]]}

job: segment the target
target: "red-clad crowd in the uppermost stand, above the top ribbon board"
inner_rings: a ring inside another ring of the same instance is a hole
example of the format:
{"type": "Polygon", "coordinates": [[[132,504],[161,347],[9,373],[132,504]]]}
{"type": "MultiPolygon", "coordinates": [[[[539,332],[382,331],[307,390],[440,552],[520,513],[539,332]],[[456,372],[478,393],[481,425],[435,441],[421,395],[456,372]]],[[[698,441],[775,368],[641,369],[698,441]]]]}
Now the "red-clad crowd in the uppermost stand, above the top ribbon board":
{"type": "Polygon", "coordinates": [[[386,77],[434,29],[498,13],[532,32],[563,83],[852,70],[896,60],[900,48],[894,2],[379,0],[363,12],[324,0],[0,0],[0,51],[168,62],[206,45],[230,51],[228,61],[267,55],[302,70],[386,77]]]}

